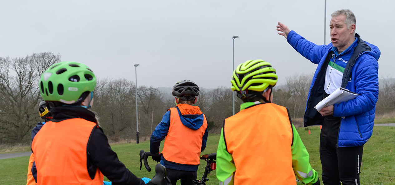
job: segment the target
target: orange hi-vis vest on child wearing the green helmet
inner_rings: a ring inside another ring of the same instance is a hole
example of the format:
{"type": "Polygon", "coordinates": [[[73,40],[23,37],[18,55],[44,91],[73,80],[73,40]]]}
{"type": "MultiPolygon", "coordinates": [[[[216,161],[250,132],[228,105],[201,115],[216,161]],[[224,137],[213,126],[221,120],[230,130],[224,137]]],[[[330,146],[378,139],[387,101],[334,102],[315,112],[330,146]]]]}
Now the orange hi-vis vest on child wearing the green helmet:
{"type": "Polygon", "coordinates": [[[32,142],[38,185],[103,185],[97,168],[92,179],[87,167],[87,145],[96,123],[81,118],[49,121],[32,142]]]}

